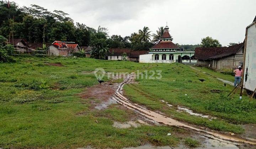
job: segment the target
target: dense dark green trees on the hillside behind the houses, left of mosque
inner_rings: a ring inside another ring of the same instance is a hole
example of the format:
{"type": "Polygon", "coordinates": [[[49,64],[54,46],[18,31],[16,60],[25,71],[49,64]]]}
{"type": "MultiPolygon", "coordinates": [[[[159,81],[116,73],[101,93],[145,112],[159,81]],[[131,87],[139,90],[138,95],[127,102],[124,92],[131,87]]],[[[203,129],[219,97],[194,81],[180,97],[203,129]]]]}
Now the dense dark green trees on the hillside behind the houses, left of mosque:
{"type": "MultiPolygon", "coordinates": [[[[24,38],[31,43],[51,43],[54,40],[76,42],[80,46],[94,46],[100,39],[106,48],[132,48],[148,50],[150,42],[148,27],[130,36],[108,36],[107,28],[94,29],[82,23],[74,23],[69,14],[54,10],[53,12],[38,6],[18,7],[15,2],[0,1],[0,34],[7,39],[24,38]],[[10,10],[10,13],[9,13],[10,10]],[[98,36],[101,32],[101,37],[98,36]],[[95,40],[95,41],[91,41],[95,40]],[[103,41],[104,40],[104,41],[103,41]]],[[[98,49],[98,48],[97,48],[98,49]]]]}

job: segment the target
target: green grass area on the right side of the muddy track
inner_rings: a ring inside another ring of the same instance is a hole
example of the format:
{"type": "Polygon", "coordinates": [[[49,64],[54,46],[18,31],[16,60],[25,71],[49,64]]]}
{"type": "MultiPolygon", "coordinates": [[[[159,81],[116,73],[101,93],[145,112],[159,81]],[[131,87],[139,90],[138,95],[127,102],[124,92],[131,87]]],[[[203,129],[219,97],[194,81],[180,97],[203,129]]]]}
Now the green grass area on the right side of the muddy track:
{"type": "MultiPolygon", "coordinates": [[[[177,63],[159,64],[151,70],[161,70],[162,78],[137,79],[138,84],[127,84],[124,87],[126,95],[133,102],[164,112],[175,119],[218,131],[243,133],[243,129],[237,124],[256,123],[255,100],[250,101],[247,96],[239,100],[238,93],[232,99],[227,98],[233,86],[225,87],[223,82],[177,63]],[[200,78],[207,81],[202,83],[198,80],[200,78]],[[221,90],[221,93],[212,93],[210,92],[212,89],[221,90]],[[172,105],[185,106],[217,119],[208,120],[208,118],[191,116],[186,112],[177,112],[175,108],[168,107],[160,100],[172,105]]],[[[213,73],[211,70],[208,72],[213,73]]],[[[225,79],[226,75],[220,76],[225,79]]]]}

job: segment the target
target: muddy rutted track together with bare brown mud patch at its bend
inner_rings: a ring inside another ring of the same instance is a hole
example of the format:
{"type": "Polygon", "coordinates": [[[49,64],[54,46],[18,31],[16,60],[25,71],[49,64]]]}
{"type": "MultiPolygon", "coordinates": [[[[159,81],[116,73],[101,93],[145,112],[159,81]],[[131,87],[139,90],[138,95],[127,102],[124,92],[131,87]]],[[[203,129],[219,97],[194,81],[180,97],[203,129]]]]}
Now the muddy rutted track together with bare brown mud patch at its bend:
{"type": "MultiPolygon", "coordinates": [[[[131,103],[130,100],[123,95],[123,86],[124,84],[134,83],[135,77],[136,77],[136,74],[131,73],[125,76],[122,83],[111,83],[114,79],[119,78],[119,77],[115,77],[110,82],[104,82],[102,85],[99,84],[99,85],[95,85],[94,87],[87,88],[86,92],[81,93],[80,96],[84,99],[90,99],[90,98],[100,99],[102,103],[97,105],[99,108],[96,108],[97,106],[95,106],[96,109],[101,109],[101,107],[103,107],[104,109],[108,105],[112,104],[113,101],[115,101],[116,103],[122,105],[123,107],[128,108],[129,110],[133,110],[137,112],[139,115],[141,115],[144,118],[144,121],[153,123],[155,125],[160,123],[164,125],[190,129],[192,132],[196,132],[200,135],[210,138],[212,142],[224,143],[225,144],[224,147],[236,148],[236,146],[234,145],[239,145],[238,143],[242,143],[242,144],[248,143],[248,144],[256,145],[256,140],[251,138],[252,135],[242,136],[242,137],[238,137],[238,136],[233,137],[233,136],[228,136],[228,134],[222,134],[215,131],[213,132],[206,129],[203,130],[195,126],[190,126],[189,124],[185,124],[180,121],[174,120],[173,118],[166,117],[164,114],[149,110],[144,106],[131,103]],[[234,142],[238,142],[238,143],[234,143],[234,142]],[[229,146],[230,144],[231,146],[229,146]]],[[[166,103],[164,100],[162,102],[166,103]]],[[[170,105],[170,107],[171,106],[172,105],[170,105]]],[[[140,118],[140,119],[143,119],[143,118],[140,118]]],[[[255,138],[254,136],[252,137],[255,138]]],[[[207,140],[210,140],[210,139],[207,139],[207,140]]]]}

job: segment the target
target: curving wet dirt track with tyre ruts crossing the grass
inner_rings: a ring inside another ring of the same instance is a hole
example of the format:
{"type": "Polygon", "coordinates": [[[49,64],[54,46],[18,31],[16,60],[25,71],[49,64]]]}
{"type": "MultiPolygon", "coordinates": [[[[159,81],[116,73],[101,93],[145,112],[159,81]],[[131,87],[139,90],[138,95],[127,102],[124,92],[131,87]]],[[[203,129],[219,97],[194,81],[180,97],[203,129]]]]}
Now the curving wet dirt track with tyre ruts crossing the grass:
{"type": "Polygon", "coordinates": [[[120,83],[120,85],[118,86],[116,92],[114,93],[114,95],[112,96],[112,99],[115,100],[117,103],[127,107],[128,109],[132,109],[135,110],[137,112],[139,112],[139,114],[154,120],[156,122],[159,123],[163,123],[165,125],[169,125],[169,126],[177,126],[177,127],[181,127],[181,128],[190,128],[193,129],[197,132],[201,132],[201,133],[206,133],[208,135],[208,137],[216,139],[216,140],[220,140],[222,142],[225,142],[225,140],[229,140],[229,141],[234,141],[234,142],[243,142],[243,143],[249,143],[249,144],[254,144],[256,145],[256,142],[253,141],[248,141],[245,139],[240,139],[240,138],[235,138],[235,137],[231,137],[231,136],[226,136],[224,134],[220,134],[220,133],[216,133],[216,132],[212,132],[212,131],[205,131],[202,129],[198,129],[189,125],[186,125],[182,122],[179,122],[177,120],[174,120],[170,117],[166,117],[162,114],[159,114],[157,112],[151,111],[146,109],[143,106],[140,106],[138,104],[135,103],[131,103],[129,99],[127,99],[126,97],[124,97],[124,95],[122,94],[122,89],[124,84],[127,83],[132,83],[134,82],[134,78],[136,77],[136,74],[129,74],[127,75],[127,77],[124,79],[124,81],[122,83],[120,83]]]}

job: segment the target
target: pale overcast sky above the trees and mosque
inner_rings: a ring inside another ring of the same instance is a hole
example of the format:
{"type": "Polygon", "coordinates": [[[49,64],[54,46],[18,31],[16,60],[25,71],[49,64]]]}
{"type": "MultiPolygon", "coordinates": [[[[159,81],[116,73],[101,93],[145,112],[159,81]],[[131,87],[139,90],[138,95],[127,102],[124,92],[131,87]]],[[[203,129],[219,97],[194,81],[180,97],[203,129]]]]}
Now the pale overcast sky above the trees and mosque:
{"type": "Polygon", "coordinates": [[[174,43],[197,44],[210,36],[224,46],[242,42],[256,15],[256,0],[15,0],[48,11],[62,10],[74,22],[107,27],[122,37],[148,26],[152,33],[169,26],[174,43]]]}

